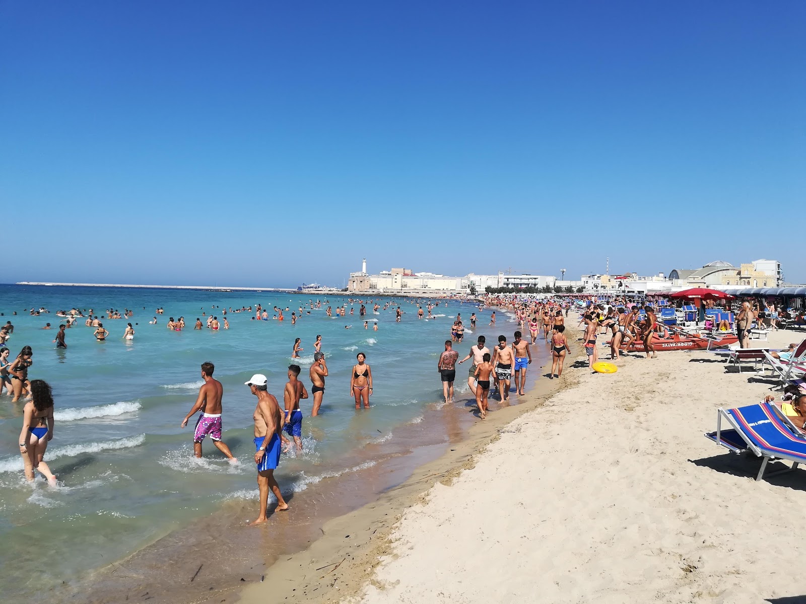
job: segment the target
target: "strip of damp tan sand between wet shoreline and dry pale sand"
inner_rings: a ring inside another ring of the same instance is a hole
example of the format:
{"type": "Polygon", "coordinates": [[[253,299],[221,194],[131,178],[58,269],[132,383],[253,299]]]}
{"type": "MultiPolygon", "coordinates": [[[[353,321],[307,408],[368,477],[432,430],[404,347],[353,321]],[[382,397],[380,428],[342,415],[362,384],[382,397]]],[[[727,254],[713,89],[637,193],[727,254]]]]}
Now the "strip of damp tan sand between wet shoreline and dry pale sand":
{"type": "MultiPolygon", "coordinates": [[[[535,345],[540,345],[540,341],[535,345]]],[[[580,352],[575,341],[571,346],[575,354],[580,352]]],[[[563,374],[571,370],[573,363],[574,357],[568,357],[563,374]]],[[[308,548],[275,561],[259,581],[244,586],[236,599],[227,597],[226,601],[263,604],[293,598],[297,602],[335,602],[356,594],[372,577],[372,570],[380,565],[380,556],[388,552],[389,536],[406,509],[425,501],[435,484],[449,485],[464,470],[474,467],[477,458],[501,437],[508,424],[542,407],[559,391],[575,386],[577,372],[567,375],[567,379],[549,380],[546,375],[550,367],[549,357],[540,366],[538,378],[526,390],[521,403],[488,414],[487,420],[479,420],[468,428],[459,443],[436,459],[418,465],[401,484],[354,511],[328,520],[321,529],[322,535],[308,548]],[[351,573],[352,569],[364,571],[351,573]]],[[[222,594],[199,602],[222,602],[222,594]]]]}

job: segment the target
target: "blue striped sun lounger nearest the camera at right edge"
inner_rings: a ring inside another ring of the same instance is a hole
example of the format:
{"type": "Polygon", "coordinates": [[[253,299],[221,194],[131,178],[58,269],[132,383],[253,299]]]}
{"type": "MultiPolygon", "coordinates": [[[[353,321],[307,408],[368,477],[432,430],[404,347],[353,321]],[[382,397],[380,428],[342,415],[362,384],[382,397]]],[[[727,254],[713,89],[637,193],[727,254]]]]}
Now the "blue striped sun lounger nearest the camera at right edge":
{"type": "Polygon", "coordinates": [[[796,470],[799,464],[806,464],[806,434],[800,432],[783,412],[770,403],[758,403],[737,409],[717,411],[717,432],[705,432],[704,436],[717,445],[722,445],[732,453],[750,451],[763,461],[756,480],[769,478],[775,474],[796,470]],[[722,427],[725,419],[729,428],[722,427]],[[787,460],[792,467],[771,472],[764,476],[767,462],[787,460]]]}

